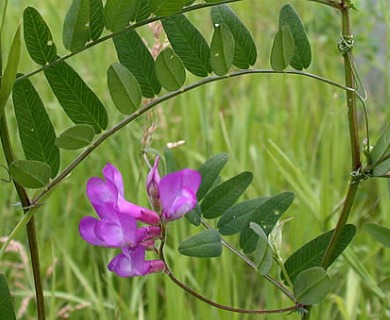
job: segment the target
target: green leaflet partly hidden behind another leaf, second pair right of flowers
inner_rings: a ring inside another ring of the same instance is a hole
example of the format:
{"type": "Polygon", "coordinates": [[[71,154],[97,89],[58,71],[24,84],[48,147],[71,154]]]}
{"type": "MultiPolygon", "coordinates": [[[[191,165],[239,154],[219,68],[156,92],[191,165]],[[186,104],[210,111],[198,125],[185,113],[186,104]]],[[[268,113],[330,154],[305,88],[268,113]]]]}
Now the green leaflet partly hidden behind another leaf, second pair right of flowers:
{"type": "Polygon", "coordinates": [[[218,221],[219,233],[229,236],[240,232],[252,214],[268,199],[269,197],[259,197],[247,200],[226,210],[218,221]]]}

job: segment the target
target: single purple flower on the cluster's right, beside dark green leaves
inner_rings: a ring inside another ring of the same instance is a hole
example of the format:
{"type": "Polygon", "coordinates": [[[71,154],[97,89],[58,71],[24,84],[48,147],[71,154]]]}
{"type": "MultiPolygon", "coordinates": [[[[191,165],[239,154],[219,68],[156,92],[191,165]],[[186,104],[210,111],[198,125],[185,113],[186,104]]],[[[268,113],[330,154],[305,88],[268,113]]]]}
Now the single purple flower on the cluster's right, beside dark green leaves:
{"type": "Polygon", "coordinates": [[[195,208],[201,180],[200,173],[191,169],[176,171],[161,179],[158,187],[165,221],[179,219],[195,208]]]}

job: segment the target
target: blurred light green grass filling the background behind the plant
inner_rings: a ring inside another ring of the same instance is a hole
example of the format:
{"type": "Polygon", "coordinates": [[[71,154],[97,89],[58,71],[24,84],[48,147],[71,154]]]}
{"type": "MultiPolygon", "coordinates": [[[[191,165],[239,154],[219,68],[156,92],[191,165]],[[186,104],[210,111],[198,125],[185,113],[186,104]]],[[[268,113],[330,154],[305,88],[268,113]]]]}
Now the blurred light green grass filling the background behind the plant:
{"type": "MultiPolygon", "coordinates": [[[[343,82],[342,58],[337,51],[339,16],[330,8],[308,1],[290,1],[300,13],[312,44],[309,72],[343,82]]],[[[277,30],[280,0],[246,0],[232,5],[251,30],[258,48],[256,67],[269,68],[269,52],[277,30]]],[[[4,48],[10,43],[25,6],[37,8],[50,26],[60,55],[63,16],[70,1],[25,0],[9,3],[4,48]]],[[[370,100],[370,138],[375,141],[389,119],[390,96],[390,5],[387,0],[361,0],[354,12],[358,67],[366,79],[370,100]]],[[[208,9],[190,18],[210,41],[208,9]]],[[[148,29],[142,32],[148,37],[148,29]]],[[[150,36],[149,36],[150,38],[150,36]]],[[[148,38],[148,39],[149,39],[148,38]]],[[[37,66],[23,49],[22,72],[37,66]]],[[[122,119],[115,110],[106,85],[106,70],[116,61],[110,41],[73,57],[69,62],[107,106],[110,126],[122,119]]],[[[196,80],[189,77],[188,83],[196,80]]],[[[56,128],[69,125],[44,77],[34,76],[56,128]]],[[[7,108],[18,146],[11,105],[7,108]]],[[[363,129],[363,112],[359,109],[363,129]]],[[[223,178],[252,171],[252,185],[243,198],[273,195],[284,190],[296,194],[284,218],[293,217],[285,228],[283,256],[287,258],[305,242],[334,227],[350,174],[350,154],[345,94],[309,78],[287,75],[256,75],[212,83],[161,104],[99,147],[53,193],[36,215],[41,268],[48,319],[298,319],[299,316],[249,316],[214,309],[184,293],[164,275],[120,279],[106,264],[114,252],[87,245],[79,236],[80,219],[92,214],[85,195],[86,181],[101,174],[104,164],[115,164],[125,177],[127,199],[147,205],[141,138],[154,122],[157,129],[150,148],[161,150],[167,142],[185,140],[174,154],[181,167],[197,168],[205,159],[228,152],[230,160],[223,178]]],[[[60,130],[59,130],[60,131],[60,130]]],[[[58,131],[58,132],[59,132],[58,131]]],[[[57,132],[57,133],[58,133],[57,132]]],[[[363,132],[363,130],[362,130],[363,132]]],[[[364,136],[361,136],[363,140],[364,136]]],[[[62,152],[68,164],[77,152],[62,152]]],[[[0,154],[0,164],[4,164],[0,154]]],[[[4,170],[0,171],[4,176],[4,170]]],[[[0,236],[6,237],[21,217],[11,184],[0,184],[0,236]]],[[[364,222],[390,226],[389,189],[386,181],[363,183],[350,222],[358,233],[350,249],[330,268],[333,292],[313,308],[312,319],[387,319],[387,293],[377,283],[390,276],[390,253],[363,230],[364,222]]],[[[184,219],[171,226],[167,256],[169,264],[185,283],[210,299],[242,308],[279,308],[290,302],[266,280],[254,274],[237,257],[225,251],[221,258],[202,260],[181,256],[180,241],[196,233],[184,219]],[[169,250],[168,250],[169,249],[169,250]]],[[[228,239],[237,243],[237,238],[228,239]]],[[[19,234],[14,252],[0,262],[10,280],[20,319],[35,319],[33,281],[27,241],[19,234]]],[[[277,277],[276,268],[272,274],[277,277]]],[[[1,318],[1,316],[0,316],[1,318]]]]}

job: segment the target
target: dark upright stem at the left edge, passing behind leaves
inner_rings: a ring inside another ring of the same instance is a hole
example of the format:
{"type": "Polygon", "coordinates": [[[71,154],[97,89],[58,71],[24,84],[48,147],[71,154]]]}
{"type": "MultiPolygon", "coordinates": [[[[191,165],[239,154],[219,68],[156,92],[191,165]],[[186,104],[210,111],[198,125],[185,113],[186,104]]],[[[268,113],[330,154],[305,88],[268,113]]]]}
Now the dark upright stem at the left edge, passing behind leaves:
{"type": "MultiPolygon", "coordinates": [[[[5,114],[1,118],[0,122],[1,122],[0,124],[1,143],[3,146],[5,159],[9,166],[15,160],[15,157],[13,155],[12,146],[9,139],[8,126],[7,126],[5,114]]],[[[20,199],[20,203],[22,205],[23,211],[26,214],[31,206],[30,199],[26,193],[26,190],[15,181],[14,181],[14,186],[18,194],[18,197],[20,199]]],[[[29,222],[27,223],[26,229],[27,229],[27,238],[28,238],[32,271],[33,271],[34,284],[35,284],[37,316],[38,316],[38,320],[45,320],[45,299],[43,297],[43,288],[42,288],[40,263],[39,263],[38,241],[37,241],[34,216],[32,216],[29,222]]]]}

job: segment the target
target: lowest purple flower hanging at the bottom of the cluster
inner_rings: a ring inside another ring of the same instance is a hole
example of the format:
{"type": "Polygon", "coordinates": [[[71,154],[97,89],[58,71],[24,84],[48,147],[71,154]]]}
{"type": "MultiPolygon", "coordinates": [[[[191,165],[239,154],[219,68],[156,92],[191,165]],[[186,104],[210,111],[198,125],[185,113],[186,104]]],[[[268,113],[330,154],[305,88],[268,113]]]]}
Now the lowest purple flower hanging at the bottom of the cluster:
{"type": "Polygon", "coordinates": [[[114,257],[108,264],[108,270],[120,277],[144,276],[165,269],[162,260],[145,260],[145,247],[124,247],[122,253],[114,257]]]}

